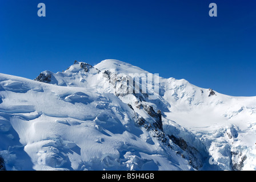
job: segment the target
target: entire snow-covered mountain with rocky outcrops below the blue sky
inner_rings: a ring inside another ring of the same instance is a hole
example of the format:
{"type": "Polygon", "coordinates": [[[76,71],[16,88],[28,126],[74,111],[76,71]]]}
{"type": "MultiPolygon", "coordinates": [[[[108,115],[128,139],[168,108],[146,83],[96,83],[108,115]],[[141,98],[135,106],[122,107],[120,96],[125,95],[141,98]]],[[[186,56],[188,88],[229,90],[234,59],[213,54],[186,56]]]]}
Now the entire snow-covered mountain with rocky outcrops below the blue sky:
{"type": "Polygon", "coordinates": [[[118,60],[35,80],[0,73],[6,169],[256,169],[256,97],[149,76],[118,60]]]}

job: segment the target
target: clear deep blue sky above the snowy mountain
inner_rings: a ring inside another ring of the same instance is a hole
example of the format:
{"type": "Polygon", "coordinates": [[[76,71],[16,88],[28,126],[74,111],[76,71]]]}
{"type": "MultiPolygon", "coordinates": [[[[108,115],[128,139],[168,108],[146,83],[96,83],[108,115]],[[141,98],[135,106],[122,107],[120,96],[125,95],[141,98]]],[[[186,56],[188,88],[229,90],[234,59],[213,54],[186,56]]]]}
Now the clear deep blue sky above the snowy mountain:
{"type": "Polygon", "coordinates": [[[256,1],[0,0],[0,72],[35,78],[117,59],[231,96],[256,96],[256,1]],[[38,17],[38,3],[46,17],[38,17]],[[209,4],[218,16],[209,16],[209,4]]]}

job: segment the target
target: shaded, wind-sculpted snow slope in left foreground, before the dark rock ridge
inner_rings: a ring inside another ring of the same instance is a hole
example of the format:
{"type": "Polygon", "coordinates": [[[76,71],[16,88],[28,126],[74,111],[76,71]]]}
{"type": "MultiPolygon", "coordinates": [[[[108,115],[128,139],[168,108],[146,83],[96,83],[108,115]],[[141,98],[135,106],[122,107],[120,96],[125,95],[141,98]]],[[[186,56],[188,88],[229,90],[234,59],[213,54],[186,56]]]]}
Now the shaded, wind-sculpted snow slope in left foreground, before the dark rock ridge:
{"type": "Polygon", "coordinates": [[[135,125],[134,111],[113,94],[1,77],[30,86],[1,91],[0,155],[7,170],[192,169],[135,125]]]}

